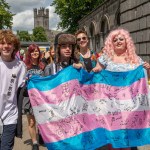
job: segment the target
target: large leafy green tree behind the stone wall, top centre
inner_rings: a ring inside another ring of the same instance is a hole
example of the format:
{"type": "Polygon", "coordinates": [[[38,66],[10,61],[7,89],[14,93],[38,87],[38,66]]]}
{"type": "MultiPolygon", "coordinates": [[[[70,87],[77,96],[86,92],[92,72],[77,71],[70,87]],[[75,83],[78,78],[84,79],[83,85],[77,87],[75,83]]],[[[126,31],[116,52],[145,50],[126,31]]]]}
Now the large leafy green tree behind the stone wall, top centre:
{"type": "Polygon", "coordinates": [[[55,7],[55,13],[61,19],[58,28],[74,33],[78,29],[78,21],[102,2],[104,0],[54,0],[51,6],[55,7]]]}

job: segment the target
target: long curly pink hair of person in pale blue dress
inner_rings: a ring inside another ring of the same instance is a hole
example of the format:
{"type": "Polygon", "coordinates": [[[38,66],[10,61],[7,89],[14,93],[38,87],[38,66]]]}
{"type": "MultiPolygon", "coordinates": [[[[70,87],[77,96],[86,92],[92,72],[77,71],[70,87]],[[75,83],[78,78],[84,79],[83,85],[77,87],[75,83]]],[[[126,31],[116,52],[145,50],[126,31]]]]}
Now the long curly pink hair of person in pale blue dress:
{"type": "Polygon", "coordinates": [[[131,64],[139,64],[139,57],[136,54],[136,48],[134,45],[134,42],[130,36],[130,33],[122,28],[118,28],[116,30],[113,30],[109,33],[108,37],[105,40],[103,52],[108,55],[113,60],[114,56],[114,46],[113,46],[113,39],[116,35],[123,35],[125,37],[126,41],[126,61],[131,64]]]}

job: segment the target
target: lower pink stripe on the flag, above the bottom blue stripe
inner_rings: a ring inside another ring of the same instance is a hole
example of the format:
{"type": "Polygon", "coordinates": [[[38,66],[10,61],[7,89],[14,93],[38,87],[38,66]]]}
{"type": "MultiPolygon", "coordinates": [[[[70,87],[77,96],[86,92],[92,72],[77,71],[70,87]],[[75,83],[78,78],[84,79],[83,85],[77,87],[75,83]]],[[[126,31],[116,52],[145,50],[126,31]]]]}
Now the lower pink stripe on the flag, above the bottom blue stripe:
{"type": "Polygon", "coordinates": [[[96,128],[107,130],[144,129],[150,127],[150,111],[116,112],[96,116],[80,114],[56,122],[38,125],[46,143],[57,142],[96,128]]]}

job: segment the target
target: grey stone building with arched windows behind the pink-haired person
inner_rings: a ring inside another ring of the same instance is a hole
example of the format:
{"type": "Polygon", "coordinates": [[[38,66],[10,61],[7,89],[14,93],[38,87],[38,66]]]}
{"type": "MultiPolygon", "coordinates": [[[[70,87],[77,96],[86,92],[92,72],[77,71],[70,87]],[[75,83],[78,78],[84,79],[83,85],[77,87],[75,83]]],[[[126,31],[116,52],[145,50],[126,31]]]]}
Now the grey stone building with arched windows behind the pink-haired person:
{"type": "Polygon", "coordinates": [[[96,51],[101,50],[107,34],[118,26],[131,33],[137,53],[150,62],[150,0],[105,0],[79,21],[96,51]]]}

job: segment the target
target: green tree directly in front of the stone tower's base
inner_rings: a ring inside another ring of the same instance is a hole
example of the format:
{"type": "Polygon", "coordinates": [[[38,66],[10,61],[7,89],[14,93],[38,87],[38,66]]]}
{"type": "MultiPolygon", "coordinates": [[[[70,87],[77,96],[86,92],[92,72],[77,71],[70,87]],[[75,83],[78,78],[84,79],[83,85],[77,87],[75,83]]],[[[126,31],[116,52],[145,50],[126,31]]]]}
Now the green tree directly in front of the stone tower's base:
{"type": "Polygon", "coordinates": [[[35,42],[47,42],[46,31],[43,27],[36,27],[33,29],[33,40],[35,42]]]}

